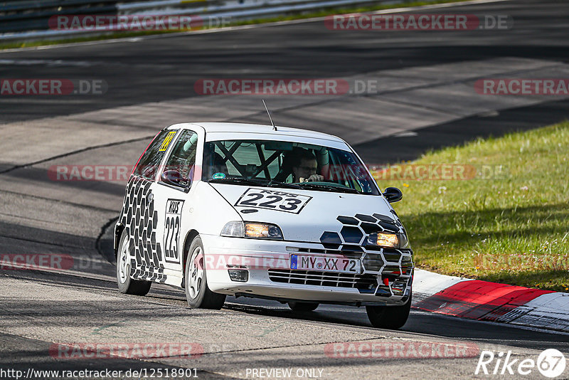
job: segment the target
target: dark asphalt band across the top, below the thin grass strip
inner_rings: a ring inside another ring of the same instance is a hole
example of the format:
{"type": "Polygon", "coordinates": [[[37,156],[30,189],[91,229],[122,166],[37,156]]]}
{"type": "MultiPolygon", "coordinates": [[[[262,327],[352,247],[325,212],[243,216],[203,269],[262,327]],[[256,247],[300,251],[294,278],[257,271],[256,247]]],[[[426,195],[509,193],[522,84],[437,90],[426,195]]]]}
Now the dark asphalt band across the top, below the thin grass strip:
{"type": "MultiPolygon", "coordinates": [[[[509,30],[334,31],[323,21],[220,33],[136,38],[0,54],[1,78],[100,78],[102,97],[0,99],[0,121],[68,115],[120,105],[197,96],[201,78],[338,78],[497,57],[568,62],[566,2],[514,0],[454,7],[506,14],[509,30]],[[135,40],[135,41],[133,41],[135,40]],[[11,64],[10,60],[27,60],[11,64]],[[9,107],[8,107],[9,105],[9,107]]],[[[415,12],[419,13],[419,12],[415,12]]],[[[430,9],[429,14],[452,13],[430,9]]],[[[285,122],[283,122],[285,124],[285,122]]]]}

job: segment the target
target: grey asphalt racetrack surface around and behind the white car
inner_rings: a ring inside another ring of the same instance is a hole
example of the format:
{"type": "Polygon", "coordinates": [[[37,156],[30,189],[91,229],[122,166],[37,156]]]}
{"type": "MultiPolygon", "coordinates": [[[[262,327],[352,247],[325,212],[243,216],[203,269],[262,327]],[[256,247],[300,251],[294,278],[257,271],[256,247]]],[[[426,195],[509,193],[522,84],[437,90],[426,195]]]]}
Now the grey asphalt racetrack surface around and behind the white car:
{"type": "MultiPolygon", "coordinates": [[[[430,147],[569,116],[563,98],[474,103],[452,95],[470,96],[474,79],[465,78],[476,70],[479,77],[527,71],[540,75],[533,78],[566,78],[569,6],[564,1],[502,1],[422,11],[439,12],[509,14],[514,28],[338,32],[313,21],[0,53],[1,78],[102,78],[110,88],[103,96],[0,97],[1,253],[73,258],[73,268],[58,273],[0,271],[1,368],[182,366],[196,367],[204,378],[247,378],[247,368],[292,367],[323,369],[324,379],[450,379],[474,376],[478,355],[346,359],[326,356],[325,347],[364,340],[469,342],[477,349],[511,350],[519,359],[536,359],[551,347],[568,353],[568,335],[415,310],[400,332],[390,332],[372,329],[365,311],[349,307],[321,306],[314,313],[293,314],[277,302],[228,298],[221,312],[208,312],[189,310],[183,293],[167,287],[153,287],[149,297],[120,295],[113,283],[114,266],[100,250],[108,255],[105,226],[117,217],[124,181],[56,182],[46,175],[56,164],[132,164],[150,135],[182,121],[180,117],[265,122],[257,97],[196,95],[193,83],[200,78],[380,78],[393,88],[371,97],[270,99],[280,124],[331,130],[355,144],[368,162],[410,159],[430,147]],[[457,101],[450,102],[449,95],[457,101]],[[489,103],[494,102],[500,107],[492,108],[489,103]],[[398,103],[410,113],[388,119],[388,110],[398,103]],[[349,107],[339,108],[342,104],[349,107]],[[479,111],[471,112],[477,107],[479,111]],[[414,117],[408,116],[413,112],[414,117]],[[334,120],[344,117],[365,125],[365,134],[358,134],[357,127],[334,127],[334,120]],[[406,122],[410,127],[389,126],[406,122]],[[72,360],[50,357],[53,342],[192,342],[201,344],[206,354],[72,360]]],[[[534,372],[528,377],[540,376],[534,372]]]]}

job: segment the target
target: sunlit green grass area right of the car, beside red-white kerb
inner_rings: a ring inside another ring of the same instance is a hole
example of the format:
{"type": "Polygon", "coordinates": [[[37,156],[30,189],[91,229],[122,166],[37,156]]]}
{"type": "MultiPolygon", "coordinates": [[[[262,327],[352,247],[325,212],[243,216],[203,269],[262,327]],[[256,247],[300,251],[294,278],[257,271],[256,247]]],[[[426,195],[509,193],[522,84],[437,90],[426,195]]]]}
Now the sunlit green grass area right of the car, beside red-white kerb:
{"type": "Polygon", "coordinates": [[[394,207],[418,268],[569,290],[569,122],[429,152],[412,164],[504,168],[491,179],[378,181],[403,190],[394,207]]]}

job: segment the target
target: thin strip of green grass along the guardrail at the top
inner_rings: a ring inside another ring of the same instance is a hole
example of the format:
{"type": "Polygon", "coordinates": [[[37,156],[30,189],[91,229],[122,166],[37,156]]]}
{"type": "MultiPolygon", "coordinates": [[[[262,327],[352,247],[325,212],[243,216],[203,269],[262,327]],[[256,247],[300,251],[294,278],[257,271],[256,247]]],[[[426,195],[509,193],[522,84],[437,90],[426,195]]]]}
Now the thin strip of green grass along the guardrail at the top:
{"type": "MultiPolygon", "coordinates": [[[[356,8],[334,8],[325,9],[322,11],[308,11],[301,14],[291,14],[288,16],[272,17],[265,19],[255,19],[251,21],[236,21],[230,23],[228,26],[241,26],[241,25],[251,25],[257,23],[269,23],[275,21],[290,21],[299,19],[311,19],[313,17],[329,16],[332,14],[349,14],[349,13],[362,13],[371,11],[380,11],[382,9],[397,9],[406,6],[422,6],[430,4],[444,4],[444,3],[459,3],[467,0],[433,0],[433,1],[401,1],[398,4],[383,4],[378,6],[362,6],[356,8]]],[[[207,28],[207,27],[204,27],[207,28]]],[[[36,46],[48,46],[48,45],[58,45],[60,43],[78,43],[78,42],[89,42],[89,41],[102,41],[114,38],[129,38],[129,37],[139,37],[139,36],[149,36],[153,34],[167,34],[167,33],[179,33],[188,30],[174,30],[174,31],[131,31],[131,32],[115,32],[115,33],[105,33],[97,36],[83,36],[74,38],[62,38],[62,39],[49,39],[41,41],[16,41],[10,43],[0,43],[0,50],[14,49],[14,48],[31,48],[36,46]]]]}

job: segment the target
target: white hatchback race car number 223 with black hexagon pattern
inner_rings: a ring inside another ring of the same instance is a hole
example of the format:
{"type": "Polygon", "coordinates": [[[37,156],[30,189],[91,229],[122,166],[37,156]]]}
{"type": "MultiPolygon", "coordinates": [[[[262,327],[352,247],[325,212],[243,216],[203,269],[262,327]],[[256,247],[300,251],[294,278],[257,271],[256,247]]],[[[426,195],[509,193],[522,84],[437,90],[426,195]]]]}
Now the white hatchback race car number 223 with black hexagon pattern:
{"type": "Polygon", "coordinates": [[[115,226],[119,290],[186,291],[366,306],[374,327],[408,319],[413,251],[390,202],[339,137],[289,127],[186,123],[161,130],[134,166],[115,226]]]}

